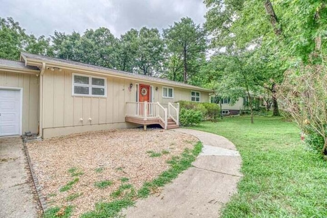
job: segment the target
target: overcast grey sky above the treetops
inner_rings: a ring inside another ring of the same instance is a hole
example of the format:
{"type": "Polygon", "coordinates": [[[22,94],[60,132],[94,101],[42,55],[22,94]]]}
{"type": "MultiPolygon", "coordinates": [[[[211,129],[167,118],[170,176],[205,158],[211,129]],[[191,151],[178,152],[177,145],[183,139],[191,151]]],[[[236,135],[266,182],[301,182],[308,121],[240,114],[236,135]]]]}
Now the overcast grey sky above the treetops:
{"type": "Polygon", "coordinates": [[[116,37],[134,29],[168,28],[188,16],[204,22],[202,0],[0,0],[0,17],[13,17],[26,33],[83,33],[106,27],[116,37]]]}

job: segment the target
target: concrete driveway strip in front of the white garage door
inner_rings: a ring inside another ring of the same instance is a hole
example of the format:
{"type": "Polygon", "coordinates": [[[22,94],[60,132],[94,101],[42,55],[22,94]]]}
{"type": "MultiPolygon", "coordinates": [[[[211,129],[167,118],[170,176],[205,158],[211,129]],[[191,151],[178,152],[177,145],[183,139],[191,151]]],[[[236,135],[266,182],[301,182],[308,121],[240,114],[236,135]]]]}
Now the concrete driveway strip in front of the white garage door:
{"type": "Polygon", "coordinates": [[[20,137],[0,138],[0,217],[37,217],[20,137]]]}

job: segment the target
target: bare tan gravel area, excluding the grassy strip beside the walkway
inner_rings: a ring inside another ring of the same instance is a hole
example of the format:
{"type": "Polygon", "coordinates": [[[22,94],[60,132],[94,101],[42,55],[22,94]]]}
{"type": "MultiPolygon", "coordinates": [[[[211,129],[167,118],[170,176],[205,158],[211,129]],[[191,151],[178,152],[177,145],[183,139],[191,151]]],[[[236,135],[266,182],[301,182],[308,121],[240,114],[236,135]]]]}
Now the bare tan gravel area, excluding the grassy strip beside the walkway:
{"type": "Polygon", "coordinates": [[[78,217],[97,202],[110,201],[123,182],[139,189],[169,168],[167,160],[197,141],[180,132],[129,129],[45,139],[27,143],[27,148],[48,208],[72,205],[72,217],[78,217]],[[95,185],[104,181],[110,185],[95,185]]]}

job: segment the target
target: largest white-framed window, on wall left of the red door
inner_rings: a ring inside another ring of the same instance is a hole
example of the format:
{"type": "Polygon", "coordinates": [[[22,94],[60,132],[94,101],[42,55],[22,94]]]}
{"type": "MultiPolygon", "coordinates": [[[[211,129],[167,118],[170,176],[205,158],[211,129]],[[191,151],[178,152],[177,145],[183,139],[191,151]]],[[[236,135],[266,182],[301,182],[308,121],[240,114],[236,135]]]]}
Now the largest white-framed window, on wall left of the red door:
{"type": "Polygon", "coordinates": [[[73,95],[107,96],[107,79],[83,74],[73,74],[73,95]]]}

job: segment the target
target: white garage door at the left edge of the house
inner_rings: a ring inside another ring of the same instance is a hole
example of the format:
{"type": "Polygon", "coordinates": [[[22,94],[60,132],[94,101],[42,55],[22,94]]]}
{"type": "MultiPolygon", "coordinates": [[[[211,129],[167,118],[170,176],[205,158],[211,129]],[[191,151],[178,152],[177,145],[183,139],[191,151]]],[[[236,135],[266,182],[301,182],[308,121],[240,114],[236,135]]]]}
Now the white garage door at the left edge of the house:
{"type": "Polygon", "coordinates": [[[20,135],[20,90],[0,89],[0,136],[20,135]]]}

